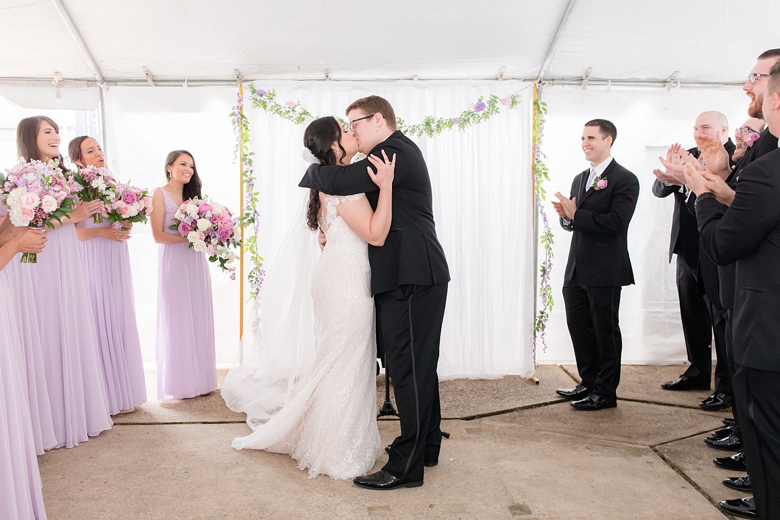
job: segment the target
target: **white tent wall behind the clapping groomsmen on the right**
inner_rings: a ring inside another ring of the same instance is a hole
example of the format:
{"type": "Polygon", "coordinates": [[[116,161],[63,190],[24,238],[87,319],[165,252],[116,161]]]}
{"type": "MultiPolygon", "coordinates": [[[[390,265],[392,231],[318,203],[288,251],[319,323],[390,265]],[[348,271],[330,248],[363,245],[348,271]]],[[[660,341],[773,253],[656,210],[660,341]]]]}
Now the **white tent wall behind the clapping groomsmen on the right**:
{"type": "MultiPolygon", "coordinates": [[[[686,361],[683,329],[675,286],[674,260],[668,263],[673,198],[659,199],[652,192],[652,170],[660,166],[669,144],[694,146],[693,121],[700,112],[718,110],[729,118],[729,134],[747,119],[747,98],[742,91],[605,91],[588,88],[551,88],[542,93],[548,103],[544,151],[548,155],[555,191],[569,195],[573,177],[587,168],[580,136],[589,119],[610,119],[618,129],[612,155],[640,180],[640,197],[629,226],[629,255],[636,285],[624,287],[620,327],[624,363],[677,364],[686,361]]],[[[569,255],[571,234],[558,224],[549,200],[545,205],[555,233],[552,287],[555,310],[548,324],[547,351],[537,350],[537,361],[574,362],[566,328],[561,288],[569,255]]],[[[540,249],[541,254],[544,251],[540,249]]]]}

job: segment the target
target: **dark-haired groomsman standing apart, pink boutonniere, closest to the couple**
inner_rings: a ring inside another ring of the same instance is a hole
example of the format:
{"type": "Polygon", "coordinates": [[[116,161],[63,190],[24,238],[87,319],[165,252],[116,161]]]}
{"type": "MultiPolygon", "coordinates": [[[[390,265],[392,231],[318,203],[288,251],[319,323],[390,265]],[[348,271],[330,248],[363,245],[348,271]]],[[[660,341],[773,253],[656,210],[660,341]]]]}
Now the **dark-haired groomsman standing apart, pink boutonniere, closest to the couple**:
{"type": "Polygon", "coordinates": [[[590,168],[574,178],[569,198],[552,205],[573,233],[563,283],[566,322],[582,383],[556,393],[578,410],[617,406],[622,337],[620,290],[634,283],[628,250],[629,222],[639,181],[612,158],[617,137],[606,119],[585,123],[582,149],[590,168]]]}

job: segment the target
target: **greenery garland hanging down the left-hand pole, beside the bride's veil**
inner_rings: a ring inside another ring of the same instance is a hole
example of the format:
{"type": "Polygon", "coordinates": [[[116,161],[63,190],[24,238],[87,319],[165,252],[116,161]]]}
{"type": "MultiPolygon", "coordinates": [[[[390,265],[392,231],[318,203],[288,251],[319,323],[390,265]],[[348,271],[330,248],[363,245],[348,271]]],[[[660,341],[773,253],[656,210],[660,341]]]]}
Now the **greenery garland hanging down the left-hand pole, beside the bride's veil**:
{"type": "MultiPolygon", "coordinates": [[[[243,164],[243,185],[244,185],[244,215],[242,226],[253,226],[254,233],[243,242],[243,252],[249,253],[250,269],[246,276],[250,284],[250,294],[254,300],[260,295],[260,288],[265,278],[264,259],[257,251],[257,233],[260,232],[260,199],[259,194],[254,189],[254,169],[252,168],[252,155],[254,151],[249,150],[250,128],[249,120],[243,113],[243,95],[239,92],[236,99],[236,106],[230,112],[233,124],[233,132],[236,134],[236,151],[234,160],[240,158],[243,164]]],[[[243,256],[243,255],[242,255],[243,256]]],[[[242,260],[243,261],[243,260],[242,260]]],[[[243,280],[242,280],[243,283],[243,280]]]]}

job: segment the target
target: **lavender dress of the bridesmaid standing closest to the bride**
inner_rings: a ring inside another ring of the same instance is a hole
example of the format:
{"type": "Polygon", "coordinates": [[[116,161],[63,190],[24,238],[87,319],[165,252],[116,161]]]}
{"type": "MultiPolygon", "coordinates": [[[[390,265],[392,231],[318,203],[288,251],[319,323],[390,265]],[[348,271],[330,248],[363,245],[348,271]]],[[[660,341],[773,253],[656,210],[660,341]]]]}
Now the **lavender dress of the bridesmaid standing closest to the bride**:
{"type": "MultiPolygon", "coordinates": [[[[165,198],[165,233],[179,236],[168,229],[179,207],[158,189],[165,198]]],[[[161,401],[217,389],[211,274],[206,256],[186,243],[158,246],[157,374],[161,401]]]]}

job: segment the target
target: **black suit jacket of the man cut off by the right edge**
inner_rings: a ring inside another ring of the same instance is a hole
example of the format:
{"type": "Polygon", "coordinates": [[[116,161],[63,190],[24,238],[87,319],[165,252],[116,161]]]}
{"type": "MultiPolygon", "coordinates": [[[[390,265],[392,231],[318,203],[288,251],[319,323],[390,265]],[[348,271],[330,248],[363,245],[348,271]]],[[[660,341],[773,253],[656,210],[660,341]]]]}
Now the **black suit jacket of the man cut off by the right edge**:
{"type": "Polygon", "coordinates": [[[736,262],[734,356],[737,365],[780,372],[780,150],[739,172],[729,208],[697,204],[701,243],[718,265],[736,262]]]}

